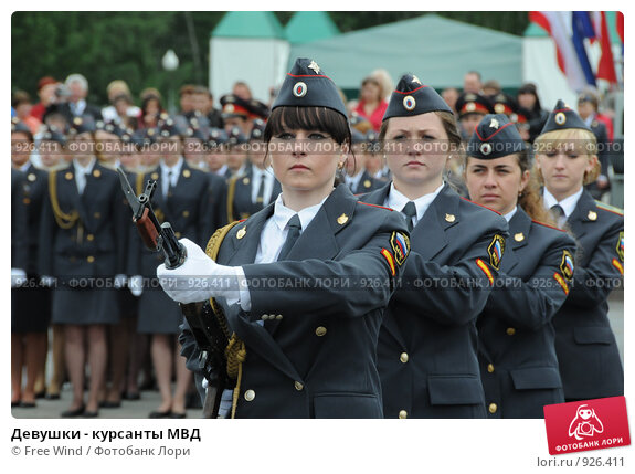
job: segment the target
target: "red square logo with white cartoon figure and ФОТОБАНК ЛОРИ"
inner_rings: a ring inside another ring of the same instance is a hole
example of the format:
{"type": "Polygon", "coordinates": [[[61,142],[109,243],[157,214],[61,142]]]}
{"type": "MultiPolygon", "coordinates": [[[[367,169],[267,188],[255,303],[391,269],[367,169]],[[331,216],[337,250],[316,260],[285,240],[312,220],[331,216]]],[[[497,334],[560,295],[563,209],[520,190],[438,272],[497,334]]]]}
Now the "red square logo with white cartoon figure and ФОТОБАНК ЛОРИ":
{"type": "Polygon", "coordinates": [[[631,444],[626,399],[601,398],[544,407],[549,454],[631,444]]]}

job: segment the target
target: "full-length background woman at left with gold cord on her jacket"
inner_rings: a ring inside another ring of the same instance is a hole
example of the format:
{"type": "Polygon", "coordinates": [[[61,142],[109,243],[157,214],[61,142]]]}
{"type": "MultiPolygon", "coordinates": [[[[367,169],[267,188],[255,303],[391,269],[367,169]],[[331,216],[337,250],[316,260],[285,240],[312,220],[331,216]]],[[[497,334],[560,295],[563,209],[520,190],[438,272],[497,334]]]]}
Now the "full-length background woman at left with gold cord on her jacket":
{"type": "MultiPolygon", "coordinates": [[[[95,125],[74,119],[68,168],[51,171],[40,229],[40,273],[56,278],[52,320],[64,325],[66,367],[73,401],[63,417],[96,417],[104,383],[106,325],[119,319],[112,289],[124,267],[117,173],[97,162],[95,125]],[[84,366],[91,368],[88,402],[84,404],[84,366]]],[[[124,277],[125,278],[125,277],[124,277]]],[[[49,280],[49,278],[45,278],[49,280]]]]}

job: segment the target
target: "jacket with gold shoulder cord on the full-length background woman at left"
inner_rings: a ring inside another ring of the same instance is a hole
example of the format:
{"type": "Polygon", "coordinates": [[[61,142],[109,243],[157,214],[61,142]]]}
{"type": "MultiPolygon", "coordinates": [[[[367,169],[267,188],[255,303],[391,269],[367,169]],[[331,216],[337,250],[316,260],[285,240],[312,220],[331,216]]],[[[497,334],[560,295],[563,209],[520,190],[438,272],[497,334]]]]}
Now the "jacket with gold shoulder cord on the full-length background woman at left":
{"type": "Polygon", "coordinates": [[[40,223],[40,274],[65,281],[125,273],[121,235],[128,217],[121,212],[123,191],[117,173],[96,162],[82,194],[73,166],[51,171],[50,177],[40,223]],[[64,214],[57,215],[60,222],[52,204],[64,214]]]}

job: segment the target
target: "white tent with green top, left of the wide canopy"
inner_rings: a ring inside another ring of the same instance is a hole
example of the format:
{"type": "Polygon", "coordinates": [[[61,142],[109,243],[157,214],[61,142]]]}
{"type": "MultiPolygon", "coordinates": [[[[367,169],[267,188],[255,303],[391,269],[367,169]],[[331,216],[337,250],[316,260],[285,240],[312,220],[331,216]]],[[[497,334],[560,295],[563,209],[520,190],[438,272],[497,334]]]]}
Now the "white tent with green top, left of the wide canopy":
{"type": "Polygon", "coordinates": [[[254,98],[266,103],[269,87],[286,73],[289,43],[268,11],[227,12],[210,38],[210,91],[214,99],[245,82],[254,98]]]}

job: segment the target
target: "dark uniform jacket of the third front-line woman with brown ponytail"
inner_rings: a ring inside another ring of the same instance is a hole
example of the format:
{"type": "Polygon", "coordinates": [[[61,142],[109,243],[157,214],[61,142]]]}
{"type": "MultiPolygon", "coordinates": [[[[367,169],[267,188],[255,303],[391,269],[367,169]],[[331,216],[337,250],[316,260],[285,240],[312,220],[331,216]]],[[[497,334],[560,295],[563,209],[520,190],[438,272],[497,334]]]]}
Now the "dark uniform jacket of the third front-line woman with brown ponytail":
{"type": "Polygon", "coordinates": [[[495,289],[477,320],[488,418],[542,418],[562,403],[551,320],[570,291],[575,242],[518,208],[495,289]]]}

